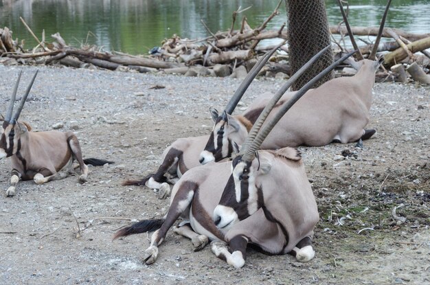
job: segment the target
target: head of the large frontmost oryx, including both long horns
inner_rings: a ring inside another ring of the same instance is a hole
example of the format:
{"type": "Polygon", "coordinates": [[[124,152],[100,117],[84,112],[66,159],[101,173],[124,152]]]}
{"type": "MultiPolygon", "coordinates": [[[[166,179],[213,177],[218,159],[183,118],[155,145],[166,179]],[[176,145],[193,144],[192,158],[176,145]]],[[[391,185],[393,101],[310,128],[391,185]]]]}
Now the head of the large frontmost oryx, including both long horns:
{"type": "MultiPolygon", "coordinates": [[[[299,71],[297,71],[291,78],[284,84],[281,90],[286,90],[288,87],[297,80],[299,76],[306,71],[313,62],[324,54],[330,46],[321,50],[313,58],[309,60],[299,71]]],[[[355,51],[354,51],[355,52],[355,51]]],[[[335,63],[330,65],[319,73],[318,76],[310,80],[307,84],[302,87],[291,100],[283,104],[278,113],[271,119],[268,124],[261,128],[264,120],[267,118],[273,106],[280,100],[284,92],[278,92],[273,96],[269,104],[264,108],[260,117],[258,117],[256,124],[249,132],[249,135],[242,145],[242,148],[237,157],[235,157],[232,163],[232,174],[229,177],[229,181],[224,188],[223,194],[221,195],[220,202],[214,209],[213,220],[217,227],[220,229],[229,229],[239,220],[247,218],[248,216],[255,213],[260,207],[264,205],[264,188],[259,183],[259,177],[266,175],[271,170],[271,161],[264,159],[264,157],[258,157],[257,150],[260,148],[264,139],[269,135],[275,124],[281,119],[281,117],[293,106],[299,98],[310,89],[310,87],[317,82],[321,77],[325,76],[328,72],[339,65],[343,60],[354,54],[350,52],[343,58],[337,60],[335,63]]]]}

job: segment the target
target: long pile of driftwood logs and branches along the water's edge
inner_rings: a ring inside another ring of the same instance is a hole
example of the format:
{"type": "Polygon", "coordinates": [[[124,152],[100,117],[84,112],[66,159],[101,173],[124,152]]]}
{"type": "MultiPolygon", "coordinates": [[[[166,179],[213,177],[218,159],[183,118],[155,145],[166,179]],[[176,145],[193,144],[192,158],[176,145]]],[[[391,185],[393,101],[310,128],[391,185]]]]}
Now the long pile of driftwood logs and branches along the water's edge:
{"type": "MultiPolygon", "coordinates": [[[[280,2],[281,3],[281,2],[280,2]]],[[[240,21],[240,29],[234,30],[236,17],[246,9],[234,12],[231,28],[226,32],[210,31],[207,29],[207,38],[188,40],[173,35],[163,41],[160,47],[150,50],[148,56],[132,56],[120,52],[104,52],[95,46],[80,48],[70,47],[59,33],[53,34],[54,41],[42,40],[32,32],[31,28],[21,21],[38,42],[32,50],[25,51],[23,43],[12,39],[12,31],[8,27],[0,28],[0,63],[4,65],[14,64],[45,64],[66,65],[70,67],[102,68],[110,70],[139,72],[165,72],[179,73],[186,76],[231,76],[244,78],[247,71],[257,61],[257,57],[272,46],[258,45],[260,41],[278,38],[279,41],[288,41],[288,35],[284,30],[285,24],[278,30],[267,30],[267,23],[278,15],[278,7],[265,21],[256,28],[247,23],[246,16],[240,21]]],[[[339,47],[335,52],[345,51],[343,38],[348,35],[345,27],[341,25],[330,26],[332,34],[341,34],[341,40],[333,42],[339,47]]],[[[355,36],[376,36],[376,27],[352,27],[355,36]]],[[[429,34],[411,34],[389,27],[384,29],[383,37],[393,38],[394,41],[381,43],[378,52],[385,53],[383,65],[384,71],[378,72],[378,81],[396,80],[408,82],[409,75],[415,81],[430,84],[430,76],[427,74],[430,68],[430,54],[425,49],[430,48],[429,34]],[[420,52],[421,54],[416,54],[420,52]],[[409,75],[408,75],[409,73],[409,75]]],[[[361,38],[365,45],[359,47],[363,55],[368,55],[372,49],[372,43],[361,38]]],[[[260,74],[267,76],[289,76],[288,47],[282,46],[283,52],[271,59],[260,74]]],[[[354,73],[346,67],[341,75],[354,73]]]]}

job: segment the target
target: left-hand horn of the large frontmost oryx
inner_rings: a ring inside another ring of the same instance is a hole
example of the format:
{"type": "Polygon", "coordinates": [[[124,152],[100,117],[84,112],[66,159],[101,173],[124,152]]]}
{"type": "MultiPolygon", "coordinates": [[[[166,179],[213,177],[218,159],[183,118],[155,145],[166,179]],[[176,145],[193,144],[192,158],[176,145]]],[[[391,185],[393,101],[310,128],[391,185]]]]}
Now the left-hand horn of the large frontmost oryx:
{"type": "Polygon", "coordinates": [[[319,51],[317,54],[315,54],[315,56],[310,58],[310,60],[308,62],[306,62],[306,64],[303,65],[296,73],[294,73],[294,75],[291,76],[291,78],[288,79],[287,82],[285,82],[285,84],[281,87],[281,89],[278,92],[276,92],[275,95],[273,95],[273,97],[271,98],[269,103],[266,105],[266,107],[264,107],[264,110],[262,111],[260,116],[258,116],[258,119],[253,124],[251,130],[249,131],[249,135],[248,135],[247,139],[245,140],[245,143],[243,144],[243,146],[241,148],[240,155],[243,155],[244,152],[242,152],[242,150],[245,150],[247,148],[247,146],[249,144],[251,144],[253,139],[256,137],[258,130],[260,130],[260,128],[261,128],[262,124],[264,123],[264,121],[266,120],[267,116],[272,111],[275,104],[278,103],[278,101],[280,100],[282,95],[284,95],[285,91],[288,88],[290,88],[291,85],[293,85],[293,83],[295,82],[295,80],[297,80],[297,78],[302,76],[302,74],[304,73],[304,71],[306,71],[306,69],[308,69],[311,65],[313,65],[315,63],[315,61],[317,61],[319,56],[321,56],[322,54],[327,52],[328,49],[330,49],[330,45],[328,45],[327,47],[324,47],[324,49],[321,49],[321,51],[319,51]]]}

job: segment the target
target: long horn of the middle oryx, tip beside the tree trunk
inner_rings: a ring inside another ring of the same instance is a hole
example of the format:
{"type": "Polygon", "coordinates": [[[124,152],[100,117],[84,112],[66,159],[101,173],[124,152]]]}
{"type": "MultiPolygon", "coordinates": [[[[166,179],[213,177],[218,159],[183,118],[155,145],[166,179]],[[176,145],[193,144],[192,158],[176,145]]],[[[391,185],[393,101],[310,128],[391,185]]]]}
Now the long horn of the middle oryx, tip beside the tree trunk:
{"type": "Polygon", "coordinates": [[[252,67],[251,71],[249,71],[247,77],[245,80],[240,83],[240,86],[238,89],[236,89],[236,92],[234,93],[233,97],[231,97],[230,102],[225,107],[225,112],[229,115],[233,113],[234,109],[238,105],[238,102],[242,98],[243,94],[245,94],[245,91],[247,91],[249,85],[251,84],[252,80],[256,78],[260,70],[264,67],[267,60],[276,52],[276,49],[279,49],[282,45],[284,45],[285,42],[280,43],[279,45],[273,47],[269,52],[264,54],[260,60],[252,67]]]}

